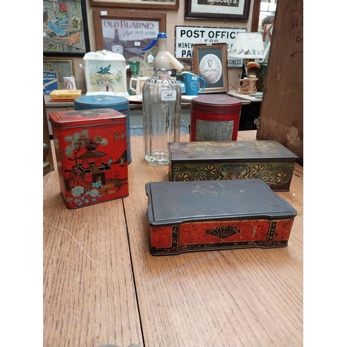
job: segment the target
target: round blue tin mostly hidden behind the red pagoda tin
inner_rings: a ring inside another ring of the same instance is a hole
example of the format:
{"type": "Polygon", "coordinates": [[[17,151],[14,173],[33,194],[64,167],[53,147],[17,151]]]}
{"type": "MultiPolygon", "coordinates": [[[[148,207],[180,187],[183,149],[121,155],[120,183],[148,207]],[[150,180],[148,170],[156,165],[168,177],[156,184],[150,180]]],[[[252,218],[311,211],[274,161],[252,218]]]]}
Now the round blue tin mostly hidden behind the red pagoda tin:
{"type": "Polygon", "coordinates": [[[131,162],[130,144],[130,115],[129,101],[123,96],[114,95],[87,95],[76,98],[74,101],[75,110],[92,110],[94,108],[113,108],[126,115],[126,142],[128,151],[128,164],[131,162]]]}

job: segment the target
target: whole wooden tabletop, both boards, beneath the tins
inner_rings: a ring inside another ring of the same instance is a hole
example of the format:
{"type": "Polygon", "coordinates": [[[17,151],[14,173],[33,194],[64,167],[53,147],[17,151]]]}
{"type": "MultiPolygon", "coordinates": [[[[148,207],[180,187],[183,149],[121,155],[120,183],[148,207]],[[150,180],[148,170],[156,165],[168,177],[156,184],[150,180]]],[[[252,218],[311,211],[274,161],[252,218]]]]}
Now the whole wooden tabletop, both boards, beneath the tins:
{"type": "Polygon", "coordinates": [[[126,198],[68,210],[58,171],[43,178],[44,346],[303,346],[303,167],[277,193],[298,211],[286,248],[154,257],[144,185],[168,167],[146,162],[142,141],[126,198]]]}

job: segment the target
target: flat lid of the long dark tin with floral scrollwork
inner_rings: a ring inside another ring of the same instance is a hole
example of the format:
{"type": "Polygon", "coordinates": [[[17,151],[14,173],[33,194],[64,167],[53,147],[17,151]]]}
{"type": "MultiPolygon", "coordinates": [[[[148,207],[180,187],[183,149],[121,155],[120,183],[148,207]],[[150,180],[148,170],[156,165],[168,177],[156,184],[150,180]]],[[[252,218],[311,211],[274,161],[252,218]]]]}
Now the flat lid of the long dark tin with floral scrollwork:
{"type": "Polygon", "coordinates": [[[273,140],[215,141],[215,142],[169,142],[169,160],[192,162],[192,160],[296,160],[298,155],[280,142],[273,140]]]}

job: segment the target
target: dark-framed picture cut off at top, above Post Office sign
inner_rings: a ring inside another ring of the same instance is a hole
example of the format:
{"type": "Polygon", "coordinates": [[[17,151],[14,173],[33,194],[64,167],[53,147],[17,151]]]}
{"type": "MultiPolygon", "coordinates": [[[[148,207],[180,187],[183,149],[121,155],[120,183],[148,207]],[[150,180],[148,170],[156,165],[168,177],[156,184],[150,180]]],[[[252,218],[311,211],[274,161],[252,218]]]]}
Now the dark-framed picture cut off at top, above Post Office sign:
{"type": "Polygon", "coordinates": [[[248,22],[251,0],[187,0],[185,19],[248,22]]]}

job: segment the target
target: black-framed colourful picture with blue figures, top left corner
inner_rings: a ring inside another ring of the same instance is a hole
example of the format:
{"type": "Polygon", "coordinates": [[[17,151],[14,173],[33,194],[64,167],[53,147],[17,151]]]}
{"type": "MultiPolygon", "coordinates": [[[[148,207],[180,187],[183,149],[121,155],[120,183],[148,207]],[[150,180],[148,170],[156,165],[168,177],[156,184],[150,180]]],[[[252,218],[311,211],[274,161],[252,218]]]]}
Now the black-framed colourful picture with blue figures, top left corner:
{"type": "Polygon", "coordinates": [[[44,56],[84,56],[89,51],[85,1],[43,0],[44,56]]]}

